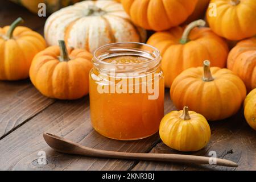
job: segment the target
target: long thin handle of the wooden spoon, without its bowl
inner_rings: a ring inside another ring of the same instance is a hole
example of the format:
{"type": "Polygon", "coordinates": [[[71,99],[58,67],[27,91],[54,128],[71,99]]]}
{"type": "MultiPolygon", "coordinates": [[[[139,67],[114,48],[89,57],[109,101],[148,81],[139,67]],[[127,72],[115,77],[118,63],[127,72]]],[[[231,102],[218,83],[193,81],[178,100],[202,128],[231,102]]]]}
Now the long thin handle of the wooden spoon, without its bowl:
{"type": "Polygon", "coordinates": [[[114,152],[114,151],[97,150],[94,148],[90,148],[90,152],[88,152],[88,148],[81,150],[80,154],[86,155],[86,156],[90,155],[98,158],[151,160],[151,161],[161,161],[161,162],[182,162],[182,163],[194,163],[194,164],[210,164],[210,162],[213,160],[213,162],[216,162],[214,163],[214,165],[217,165],[217,166],[228,166],[228,167],[238,166],[237,163],[234,163],[230,160],[220,159],[220,158],[214,159],[214,158],[209,158],[205,156],[195,156],[195,155],[114,152]]]}

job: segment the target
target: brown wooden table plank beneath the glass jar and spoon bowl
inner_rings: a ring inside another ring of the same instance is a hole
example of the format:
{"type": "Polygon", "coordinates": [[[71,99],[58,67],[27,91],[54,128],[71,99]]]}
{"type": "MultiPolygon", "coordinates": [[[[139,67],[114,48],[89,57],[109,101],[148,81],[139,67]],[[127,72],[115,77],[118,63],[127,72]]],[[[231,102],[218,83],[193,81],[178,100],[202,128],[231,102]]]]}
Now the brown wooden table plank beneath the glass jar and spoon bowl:
{"type": "MultiPolygon", "coordinates": [[[[166,94],[166,111],[175,109],[166,94]]],[[[127,170],[134,161],[85,158],[60,154],[44,142],[42,133],[60,135],[88,147],[122,152],[148,152],[159,142],[158,134],[137,141],[118,141],[102,137],[92,129],[89,97],[76,101],[57,101],[36,115],[31,121],[0,140],[0,169],[54,169],[54,170],[127,170]],[[48,165],[36,162],[39,151],[46,151],[48,165]]]]}

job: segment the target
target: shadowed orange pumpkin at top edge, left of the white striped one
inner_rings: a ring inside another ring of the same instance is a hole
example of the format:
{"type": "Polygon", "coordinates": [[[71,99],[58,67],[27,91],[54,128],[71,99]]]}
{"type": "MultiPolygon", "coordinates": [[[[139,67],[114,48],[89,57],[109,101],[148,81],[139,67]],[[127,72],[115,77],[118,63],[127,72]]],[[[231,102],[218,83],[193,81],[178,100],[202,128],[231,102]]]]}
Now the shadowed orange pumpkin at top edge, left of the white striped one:
{"type": "Polygon", "coordinates": [[[49,14],[61,9],[62,7],[72,5],[73,3],[79,2],[81,0],[11,0],[11,1],[26,7],[32,13],[38,13],[39,3],[45,3],[47,14],[49,14]]]}

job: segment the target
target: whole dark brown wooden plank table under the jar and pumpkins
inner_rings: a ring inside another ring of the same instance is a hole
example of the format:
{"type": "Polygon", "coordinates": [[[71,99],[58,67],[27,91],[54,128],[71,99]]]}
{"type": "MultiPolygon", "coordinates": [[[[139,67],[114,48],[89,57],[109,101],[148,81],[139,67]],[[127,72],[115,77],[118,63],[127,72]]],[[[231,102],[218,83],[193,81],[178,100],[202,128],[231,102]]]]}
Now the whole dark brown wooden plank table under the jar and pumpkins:
{"type": "MultiPolygon", "coordinates": [[[[45,18],[7,0],[0,2],[0,27],[22,16],[25,26],[43,34],[45,18]]],[[[236,99],[236,98],[234,98],[236,99]]],[[[166,90],[166,113],[175,110],[166,90]]],[[[123,142],[97,134],[90,124],[89,97],[59,101],[42,96],[29,80],[0,82],[0,169],[2,170],[256,170],[256,132],[243,118],[242,110],[225,121],[210,122],[210,143],[198,152],[177,152],[165,146],[156,134],[147,139],[123,142]],[[42,133],[60,135],[84,146],[122,152],[152,152],[208,156],[233,160],[237,168],[164,162],[97,159],[53,151],[42,133]],[[45,151],[47,164],[38,164],[45,151]]]]}

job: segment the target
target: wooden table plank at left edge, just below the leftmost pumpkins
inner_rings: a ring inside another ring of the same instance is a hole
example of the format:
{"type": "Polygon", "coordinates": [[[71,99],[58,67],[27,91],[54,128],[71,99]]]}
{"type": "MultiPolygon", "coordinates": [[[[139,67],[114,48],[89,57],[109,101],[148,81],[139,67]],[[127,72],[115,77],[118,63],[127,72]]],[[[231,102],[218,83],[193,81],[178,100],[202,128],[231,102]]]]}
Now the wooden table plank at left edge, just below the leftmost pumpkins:
{"type": "Polygon", "coordinates": [[[30,81],[0,81],[0,139],[51,105],[30,81]]]}

